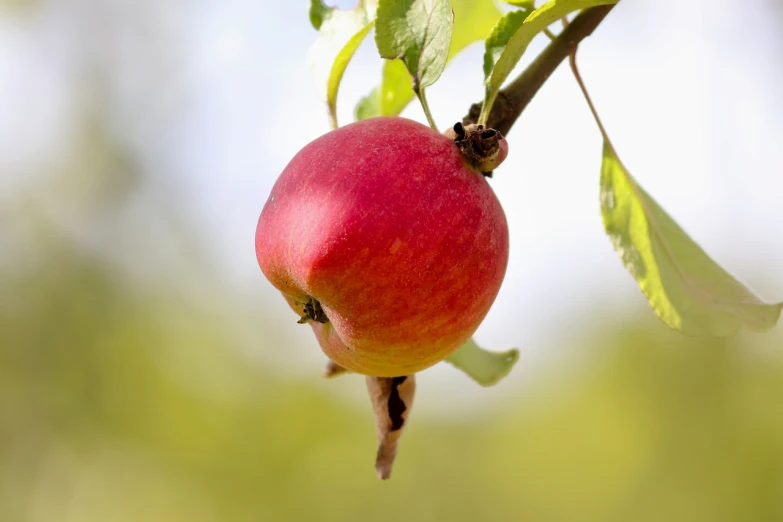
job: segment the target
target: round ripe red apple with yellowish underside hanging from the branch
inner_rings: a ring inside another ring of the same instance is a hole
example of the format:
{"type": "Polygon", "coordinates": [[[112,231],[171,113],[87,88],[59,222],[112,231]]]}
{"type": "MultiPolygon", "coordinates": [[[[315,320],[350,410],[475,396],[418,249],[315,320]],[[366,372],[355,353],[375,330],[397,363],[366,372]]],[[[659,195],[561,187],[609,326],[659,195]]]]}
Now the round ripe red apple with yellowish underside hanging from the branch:
{"type": "MultiPolygon", "coordinates": [[[[503,146],[507,147],[505,140],[503,146]]],[[[508,263],[508,225],[454,142],[398,117],[306,145],[278,178],[256,230],[264,275],[353,372],[410,375],[476,331],[508,263]]]]}

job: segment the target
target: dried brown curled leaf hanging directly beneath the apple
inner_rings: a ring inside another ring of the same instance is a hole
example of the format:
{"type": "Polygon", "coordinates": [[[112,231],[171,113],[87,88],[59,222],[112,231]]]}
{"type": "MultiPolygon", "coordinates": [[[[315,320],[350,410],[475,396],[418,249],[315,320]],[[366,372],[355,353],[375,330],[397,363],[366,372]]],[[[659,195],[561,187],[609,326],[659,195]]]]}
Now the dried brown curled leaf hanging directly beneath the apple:
{"type": "Polygon", "coordinates": [[[378,473],[378,478],[386,480],[391,477],[392,466],[397,456],[397,442],[413,406],[416,379],[413,375],[403,377],[369,375],[366,380],[378,435],[375,471],[378,473]]]}

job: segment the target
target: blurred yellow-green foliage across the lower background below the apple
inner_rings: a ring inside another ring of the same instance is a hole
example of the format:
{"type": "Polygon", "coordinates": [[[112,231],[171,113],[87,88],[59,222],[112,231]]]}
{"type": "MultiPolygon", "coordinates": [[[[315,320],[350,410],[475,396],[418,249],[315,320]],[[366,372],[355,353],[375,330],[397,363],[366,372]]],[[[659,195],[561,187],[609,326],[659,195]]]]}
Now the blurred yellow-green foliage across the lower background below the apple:
{"type": "Polygon", "coordinates": [[[251,363],[219,316],[38,234],[46,261],[0,275],[4,522],[783,520],[771,336],[575,325],[575,364],[506,402],[414,411],[382,483],[369,406],[251,363]]]}

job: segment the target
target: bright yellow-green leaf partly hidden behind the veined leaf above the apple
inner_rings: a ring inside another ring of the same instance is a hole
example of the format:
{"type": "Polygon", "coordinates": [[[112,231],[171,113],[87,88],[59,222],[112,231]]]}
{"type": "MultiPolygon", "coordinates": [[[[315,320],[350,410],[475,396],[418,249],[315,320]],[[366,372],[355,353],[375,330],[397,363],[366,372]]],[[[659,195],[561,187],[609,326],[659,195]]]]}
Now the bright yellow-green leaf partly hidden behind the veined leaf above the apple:
{"type": "MultiPolygon", "coordinates": [[[[453,0],[452,7],[454,30],[449,60],[471,43],[486,38],[501,15],[492,0],[453,0]]],[[[399,60],[388,60],[383,65],[380,86],[374,88],[356,106],[356,119],[397,116],[414,97],[405,65],[399,60]]]]}

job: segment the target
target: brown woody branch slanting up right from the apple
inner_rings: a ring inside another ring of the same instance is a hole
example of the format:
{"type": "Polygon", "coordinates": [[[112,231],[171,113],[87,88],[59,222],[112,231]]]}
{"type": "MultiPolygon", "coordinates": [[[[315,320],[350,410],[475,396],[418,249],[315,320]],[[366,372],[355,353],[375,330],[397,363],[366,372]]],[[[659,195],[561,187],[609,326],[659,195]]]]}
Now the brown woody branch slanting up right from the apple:
{"type": "MultiPolygon", "coordinates": [[[[508,134],[511,126],[544,82],[579,45],[579,42],[593,33],[613,7],[614,4],[591,7],[574,18],[518,78],[498,93],[492,112],[489,113],[487,126],[504,135],[508,134]]],[[[476,123],[480,113],[481,103],[474,103],[467,116],[463,118],[463,124],[476,123]]]]}

